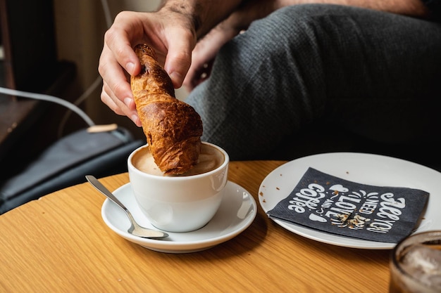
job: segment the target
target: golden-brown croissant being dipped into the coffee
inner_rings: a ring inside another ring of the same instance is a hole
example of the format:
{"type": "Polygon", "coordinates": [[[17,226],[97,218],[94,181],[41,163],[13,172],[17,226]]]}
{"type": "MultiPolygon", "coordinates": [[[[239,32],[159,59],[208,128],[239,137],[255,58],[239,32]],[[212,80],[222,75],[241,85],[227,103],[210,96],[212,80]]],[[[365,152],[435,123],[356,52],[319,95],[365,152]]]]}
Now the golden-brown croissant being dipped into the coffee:
{"type": "Polygon", "coordinates": [[[149,150],[164,174],[183,174],[199,158],[201,117],[192,106],[175,98],[171,79],[153,49],[139,44],[135,53],[142,70],[130,78],[130,86],[149,150]]]}

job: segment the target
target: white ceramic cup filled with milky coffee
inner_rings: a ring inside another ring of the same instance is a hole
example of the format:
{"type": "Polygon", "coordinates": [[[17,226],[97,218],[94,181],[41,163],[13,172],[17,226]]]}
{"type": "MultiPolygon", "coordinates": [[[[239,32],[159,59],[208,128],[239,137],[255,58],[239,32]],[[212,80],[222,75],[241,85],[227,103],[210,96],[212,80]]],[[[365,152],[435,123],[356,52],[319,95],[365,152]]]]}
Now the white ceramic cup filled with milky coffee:
{"type": "Polygon", "coordinates": [[[168,232],[190,232],[206,225],[221,204],[228,181],[227,152],[217,145],[202,144],[221,152],[223,161],[211,171],[190,176],[159,176],[137,169],[128,157],[130,185],[142,212],[153,226],[168,232]]]}

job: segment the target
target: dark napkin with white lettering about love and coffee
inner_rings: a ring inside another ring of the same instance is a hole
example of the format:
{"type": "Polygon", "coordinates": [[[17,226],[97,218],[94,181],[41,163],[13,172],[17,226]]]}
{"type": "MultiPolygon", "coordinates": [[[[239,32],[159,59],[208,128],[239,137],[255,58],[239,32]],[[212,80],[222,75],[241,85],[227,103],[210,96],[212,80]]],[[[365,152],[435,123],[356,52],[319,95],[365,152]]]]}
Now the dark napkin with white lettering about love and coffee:
{"type": "Polygon", "coordinates": [[[309,168],[268,216],[347,237],[397,243],[426,207],[423,190],[347,181],[309,168]]]}

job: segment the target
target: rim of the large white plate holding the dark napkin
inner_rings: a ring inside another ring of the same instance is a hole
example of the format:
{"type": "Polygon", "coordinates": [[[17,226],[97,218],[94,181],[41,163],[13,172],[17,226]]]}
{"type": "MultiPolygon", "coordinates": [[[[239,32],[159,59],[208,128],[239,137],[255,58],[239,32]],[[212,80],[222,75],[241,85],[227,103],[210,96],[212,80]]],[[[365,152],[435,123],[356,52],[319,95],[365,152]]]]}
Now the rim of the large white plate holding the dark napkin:
{"type": "MultiPolygon", "coordinates": [[[[268,180],[270,180],[271,177],[275,177],[275,174],[278,174],[278,172],[280,172],[282,169],[290,168],[292,164],[296,164],[299,162],[304,163],[304,162],[311,160],[311,159],[321,159],[323,157],[329,157],[329,156],[339,156],[339,157],[341,157],[341,156],[347,156],[347,157],[356,156],[356,157],[364,157],[364,159],[370,157],[370,158],[375,158],[378,160],[395,162],[395,164],[398,164],[398,163],[399,164],[407,164],[411,167],[421,168],[421,169],[425,169],[426,171],[435,172],[434,174],[436,174],[437,176],[441,176],[440,171],[437,171],[437,170],[432,169],[430,167],[426,167],[426,166],[418,164],[416,162],[407,161],[406,159],[400,159],[397,157],[391,157],[391,156],[387,156],[387,155],[377,155],[377,154],[371,154],[371,153],[366,153],[366,152],[324,152],[324,153],[319,153],[319,154],[314,154],[314,155],[308,155],[308,156],[304,156],[304,157],[299,157],[297,159],[292,159],[289,162],[285,162],[284,164],[280,165],[279,167],[273,169],[263,179],[263,181],[259,185],[259,193],[258,194],[259,194],[260,207],[261,207],[261,209],[263,209],[265,214],[273,208],[273,207],[268,207],[268,204],[266,202],[264,202],[264,200],[266,200],[266,198],[264,196],[266,196],[268,194],[268,190],[264,190],[265,184],[268,182],[268,180]],[[264,195],[261,196],[262,194],[264,194],[264,195]]],[[[315,168],[320,170],[319,167],[315,167],[315,168]]],[[[302,171],[302,174],[304,174],[305,171],[306,171],[306,169],[304,171],[302,171]]],[[[320,171],[323,171],[323,170],[320,170],[320,171]]],[[[329,172],[325,172],[325,173],[329,174],[329,172]]],[[[337,176],[332,173],[330,175],[337,176]]],[[[350,179],[348,179],[348,180],[350,180],[350,179]]],[[[298,183],[298,181],[296,181],[294,183],[294,187],[295,187],[295,185],[297,185],[297,183],[298,183]]],[[[368,184],[372,184],[372,183],[368,183],[368,184]]],[[[373,184],[375,184],[375,183],[373,183],[373,184]]],[[[429,190],[426,190],[426,191],[428,191],[430,193],[429,190]]],[[[430,195],[432,195],[432,193],[430,193],[430,195]]],[[[280,200],[284,199],[287,196],[288,196],[288,194],[285,194],[284,197],[280,196],[280,200]]],[[[439,197],[440,195],[437,195],[437,196],[439,197]]],[[[278,201],[280,201],[280,200],[278,200],[278,201]]],[[[430,200],[430,196],[429,196],[429,200],[430,200]]],[[[427,216],[426,213],[427,213],[427,211],[425,211],[425,214],[422,215],[423,218],[426,218],[426,216],[427,216]]],[[[297,225],[294,223],[289,223],[287,221],[282,221],[280,219],[271,219],[271,220],[274,221],[275,223],[277,223],[282,228],[285,228],[286,230],[289,230],[290,232],[292,232],[294,234],[297,234],[302,237],[306,237],[306,238],[309,238],[311,240],[315,240],[318,242],[323,242],[323,243],[326,243],[329,245],[336,245],[336,246],[340,246],[340,247],[349,247],[349,248],[357,248],[357,249],[393,249],[393,247],[395,247],[395,245],[396,245],[396,243],[375,242],[375,241],[371,241],[371,240],[362,240],[362,239],[351,238],[351,237],[347,237],[347,236],[343,236],[343,235],[335,235],[332,233],[326,233],[325,231],[314,230],[312,228],[304,227],[304,226],[297,225]],[[311,235],[311,232],[313,233],[313,235],[311,235]],[[326,238],[328,238],[328,239],[326,239],[326,238]],[[329,239],[331,239],[331,240],[329,240],[329,239]],[[333,239],[337,239],[339,241],[335,241],[333,239]],[[345,240],[350,240],[350,242],[347,242],[345,240]]],[[[421,226],[422,225],[418,226],[418,228],[421,226]]],[[[418,230],[418,228],[416,228],[416,230],[414,230],[411,234],[422,232],[424,230],[423,229],[420,231],[420,230],[418,230]]],[[[441,226],[438,228],[441,228],[441,226]]],[[[433,230],[433,229],[431,228],[430,230],[433,230]]]]}

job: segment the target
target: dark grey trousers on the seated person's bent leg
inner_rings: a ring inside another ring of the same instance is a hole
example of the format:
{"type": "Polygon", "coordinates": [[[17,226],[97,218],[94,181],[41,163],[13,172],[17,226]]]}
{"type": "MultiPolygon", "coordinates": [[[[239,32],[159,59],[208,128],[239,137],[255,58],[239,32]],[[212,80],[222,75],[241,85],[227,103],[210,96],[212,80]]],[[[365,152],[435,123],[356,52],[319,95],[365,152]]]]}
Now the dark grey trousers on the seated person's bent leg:
{"type": "Polygon", "coordinates": [[[311,125],[336,139],[430,141],[441,131],[440,83],[440,23],[313,4],[253,22],[186,101],[204,141],[231,159],[262,159],[285,141],[295,153],[311,125]]]}

